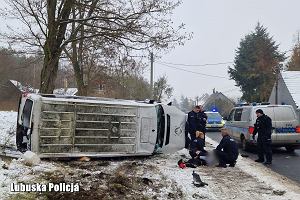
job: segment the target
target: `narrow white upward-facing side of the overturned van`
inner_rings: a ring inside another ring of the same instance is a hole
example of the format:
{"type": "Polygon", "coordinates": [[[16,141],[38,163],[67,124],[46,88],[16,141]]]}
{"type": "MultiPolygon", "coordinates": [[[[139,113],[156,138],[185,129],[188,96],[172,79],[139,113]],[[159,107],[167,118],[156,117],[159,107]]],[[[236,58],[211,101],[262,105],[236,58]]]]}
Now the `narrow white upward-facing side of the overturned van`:
{"type": "Polygon", "coordinates": [[[102,97],[83,97],[83,96],[62,96],[54,94],[28,94],[32,100],[53,101],[53,102],[74,102],[74,103],[91,103],[91,104],[111,104],[126,106],[151,107],[153,104],[139,102],[134,100],[111,99],[102,97]]]}

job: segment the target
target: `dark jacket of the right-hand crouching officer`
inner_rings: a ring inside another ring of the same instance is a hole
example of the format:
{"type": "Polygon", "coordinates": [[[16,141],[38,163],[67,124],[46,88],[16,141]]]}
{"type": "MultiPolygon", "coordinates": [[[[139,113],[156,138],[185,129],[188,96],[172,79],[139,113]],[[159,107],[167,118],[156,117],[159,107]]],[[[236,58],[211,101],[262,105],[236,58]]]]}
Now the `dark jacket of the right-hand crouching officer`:
{"type": "Polygon", "coordinates": [[[217,150],[223,150],[232,160],[236,160],[239,155],[238,146],[229,135],[225,135],[222,138],[220,144],[217,146],[217,150]]]}

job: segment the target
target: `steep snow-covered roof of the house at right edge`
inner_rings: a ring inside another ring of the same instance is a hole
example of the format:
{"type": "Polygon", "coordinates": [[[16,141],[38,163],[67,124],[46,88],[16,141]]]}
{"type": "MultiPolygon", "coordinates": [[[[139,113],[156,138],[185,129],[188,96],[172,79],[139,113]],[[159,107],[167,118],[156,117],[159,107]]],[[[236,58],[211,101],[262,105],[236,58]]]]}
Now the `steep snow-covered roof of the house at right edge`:
{"type": "Polygon", "coordinates": [[[293,100],[300,107],[300,71],[284,71],[281,74],[293,100]]]}

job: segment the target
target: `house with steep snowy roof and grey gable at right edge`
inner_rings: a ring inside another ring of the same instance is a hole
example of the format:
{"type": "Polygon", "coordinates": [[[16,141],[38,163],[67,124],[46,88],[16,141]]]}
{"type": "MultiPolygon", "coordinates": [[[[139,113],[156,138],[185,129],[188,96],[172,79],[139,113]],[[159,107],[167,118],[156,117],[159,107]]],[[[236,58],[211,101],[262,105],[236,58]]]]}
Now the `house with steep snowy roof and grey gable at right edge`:
{"type": "Polygon", "coordinates": [[[279,74],[276,102],[276,84],[269,98],[271,104],[291,105],[300,119],[300,71],[285,71],[279,74]]]}

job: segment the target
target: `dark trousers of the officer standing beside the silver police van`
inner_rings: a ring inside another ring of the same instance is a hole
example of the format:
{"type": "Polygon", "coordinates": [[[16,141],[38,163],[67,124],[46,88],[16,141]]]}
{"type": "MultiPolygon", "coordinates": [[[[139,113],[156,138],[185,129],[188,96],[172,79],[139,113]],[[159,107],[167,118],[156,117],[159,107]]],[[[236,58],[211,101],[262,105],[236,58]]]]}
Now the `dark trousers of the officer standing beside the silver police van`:
{"type": "Polygon", "coordinates": [[[259,160],[264,161],[266,156],[266,161],[272,162],[271,144],[272,144],[271,140],[267,140],[267,139],[257,140],[257,154],[259,160]]]}

